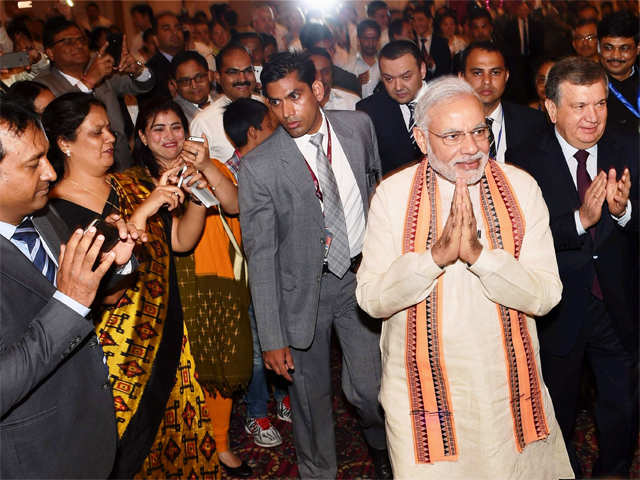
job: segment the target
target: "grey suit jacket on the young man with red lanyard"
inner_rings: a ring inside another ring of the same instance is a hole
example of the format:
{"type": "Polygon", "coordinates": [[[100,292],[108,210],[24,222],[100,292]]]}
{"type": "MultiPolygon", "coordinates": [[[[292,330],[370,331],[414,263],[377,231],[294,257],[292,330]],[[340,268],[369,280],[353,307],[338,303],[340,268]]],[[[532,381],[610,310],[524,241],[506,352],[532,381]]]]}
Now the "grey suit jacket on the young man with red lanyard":
{"type": "MultiPolygon", "coordinates": [[[[365,211],[380,179],[373,124],[362,112],[325,112],[353,170],[365,211]]],[[[240,223],[263,350],[313,341],[325,249],[324,218],[304,157],[287,132],[240,162],[240,223]]]]}

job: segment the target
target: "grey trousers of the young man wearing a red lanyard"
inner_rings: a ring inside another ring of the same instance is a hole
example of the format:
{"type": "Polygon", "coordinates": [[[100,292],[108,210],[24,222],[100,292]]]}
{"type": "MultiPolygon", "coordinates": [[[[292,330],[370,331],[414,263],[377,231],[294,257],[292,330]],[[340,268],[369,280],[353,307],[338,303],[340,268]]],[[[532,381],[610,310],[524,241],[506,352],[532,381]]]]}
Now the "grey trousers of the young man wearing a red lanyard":
{"type": "Polygon", "coordinates": [[[386,449],[380,390],[380,335],[355,298],[355,274],[322,276],[318,319],[311,346],[291,348],[295,365],[289,387],[293,435],[300,478],[335,478],[337,473],[332,410],[330,342],[335,328],[342,347],[342,390],[356,408],[367,443],[386,449]]]}

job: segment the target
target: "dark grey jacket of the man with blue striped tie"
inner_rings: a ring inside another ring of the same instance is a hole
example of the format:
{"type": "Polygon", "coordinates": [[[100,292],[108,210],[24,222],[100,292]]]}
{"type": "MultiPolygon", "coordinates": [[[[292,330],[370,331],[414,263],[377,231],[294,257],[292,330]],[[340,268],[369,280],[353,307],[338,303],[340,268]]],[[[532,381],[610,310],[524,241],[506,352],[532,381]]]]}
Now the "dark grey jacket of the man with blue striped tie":
{"type": "MultiPolygon", "coordinates": [[[[66,227],[33,223],[52,254],[66,227]]],[[[106,478],[116,451],[113,396],[93,324],[0,236],[0,477],[106,478]]]]}

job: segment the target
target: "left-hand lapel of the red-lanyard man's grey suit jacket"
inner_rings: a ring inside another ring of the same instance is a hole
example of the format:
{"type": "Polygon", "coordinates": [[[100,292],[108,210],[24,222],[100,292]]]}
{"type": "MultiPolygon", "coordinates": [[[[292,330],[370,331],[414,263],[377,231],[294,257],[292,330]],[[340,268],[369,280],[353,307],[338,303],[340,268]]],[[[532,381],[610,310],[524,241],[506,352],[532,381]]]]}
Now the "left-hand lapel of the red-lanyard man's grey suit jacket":
{"type": "Polygon", "coordinates": [[[274,135],[278,136],[280,144],[280,159],[283,164],[284,178],[298,190],[311,208],[311,217],[324,228],[322,208],[316,197],[316,188],[304,156],[300,153],[296,142],[293,141],[284,128],[278,127],[274,135]]]}

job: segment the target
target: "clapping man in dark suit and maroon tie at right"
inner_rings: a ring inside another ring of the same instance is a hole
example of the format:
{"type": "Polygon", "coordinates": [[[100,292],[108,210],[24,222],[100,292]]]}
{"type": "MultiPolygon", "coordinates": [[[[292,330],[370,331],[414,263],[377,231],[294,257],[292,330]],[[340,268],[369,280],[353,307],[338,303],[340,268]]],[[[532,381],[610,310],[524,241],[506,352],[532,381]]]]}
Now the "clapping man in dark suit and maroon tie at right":
{"type": "Polygon", "coordinates": [[[638,144],[605,132],[607,77],[592,60],[556,63],[546,96],[555,130],[507,158],[540,185],[564,285],[558,306],[538,322],[542,372],[580,477],[571,439],[588,361],[597,387],[594,475],[628,476],[637,445],[638,144]]]}

